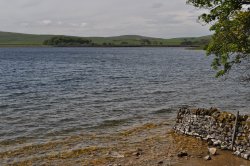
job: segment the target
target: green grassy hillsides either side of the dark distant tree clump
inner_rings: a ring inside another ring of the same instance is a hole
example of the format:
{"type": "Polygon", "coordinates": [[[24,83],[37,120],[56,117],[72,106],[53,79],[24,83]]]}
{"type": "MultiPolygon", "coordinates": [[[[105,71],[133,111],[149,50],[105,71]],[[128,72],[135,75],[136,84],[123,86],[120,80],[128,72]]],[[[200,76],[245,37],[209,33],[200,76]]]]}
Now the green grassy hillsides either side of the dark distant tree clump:
{"type": "MultiPolygon", "coordinates": [[[[0,47],[5,46],[43,46],[43,42],[56,35],[33,35],[12,32],[0,32],[0,47]]],[[[162,39],[138,35],[115,37],[83,37],[92,40],[96,46],[195,46],[203,47],[210,36],[162,39]]]]}

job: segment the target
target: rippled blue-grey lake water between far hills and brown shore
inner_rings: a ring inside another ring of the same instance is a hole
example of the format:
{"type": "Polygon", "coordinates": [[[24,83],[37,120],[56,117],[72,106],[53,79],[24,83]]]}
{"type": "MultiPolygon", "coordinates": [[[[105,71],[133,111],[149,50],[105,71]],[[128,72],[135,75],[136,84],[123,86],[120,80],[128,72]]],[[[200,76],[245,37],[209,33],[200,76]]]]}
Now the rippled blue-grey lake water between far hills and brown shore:
{"type": "Polygon", "coordinates": [[[112,133],[182,106],[248,113],[250,88],[184,48],[0,48],[0,151],[112,133]]]}

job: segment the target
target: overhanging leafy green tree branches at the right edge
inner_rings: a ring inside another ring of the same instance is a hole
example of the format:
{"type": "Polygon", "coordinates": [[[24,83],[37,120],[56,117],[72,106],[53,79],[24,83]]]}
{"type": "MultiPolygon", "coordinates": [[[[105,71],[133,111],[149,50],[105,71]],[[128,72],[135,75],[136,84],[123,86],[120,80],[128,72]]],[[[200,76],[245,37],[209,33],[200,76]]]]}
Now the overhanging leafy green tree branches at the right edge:
{"type": "Polygon", "coordinates": [[[207,55],[214,55],[212,67],[217,77],[229,72],[235,64],[250,57],[250,0],[187,0],[208,13],[199,20],[211,24],[214,31],[207,55]]]}

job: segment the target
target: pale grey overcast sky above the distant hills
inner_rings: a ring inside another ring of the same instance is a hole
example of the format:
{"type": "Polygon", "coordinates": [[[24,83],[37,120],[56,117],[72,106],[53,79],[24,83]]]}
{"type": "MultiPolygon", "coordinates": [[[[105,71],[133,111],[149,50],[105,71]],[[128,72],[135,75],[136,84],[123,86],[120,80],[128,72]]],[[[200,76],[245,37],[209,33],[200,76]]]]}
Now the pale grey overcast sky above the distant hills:
{"type": "Polygon", "coordinates": [[[0,0],[0,31],[74,36],[210,34],[186,0],[0,0]]]}

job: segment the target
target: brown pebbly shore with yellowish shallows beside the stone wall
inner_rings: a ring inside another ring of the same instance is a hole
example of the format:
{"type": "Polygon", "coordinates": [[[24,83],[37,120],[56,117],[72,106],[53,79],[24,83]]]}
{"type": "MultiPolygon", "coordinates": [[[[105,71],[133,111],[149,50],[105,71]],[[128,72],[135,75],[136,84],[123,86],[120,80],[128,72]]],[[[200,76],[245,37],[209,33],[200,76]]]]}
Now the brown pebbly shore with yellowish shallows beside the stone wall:
{"type": "Polygon", "coordinates": [[[219,151],[211,161],[205,161],[207,143],[197,138],[179,135],[168,123],[146,123],[112,135],[92,134],[71,136],[61,142],[31,145],[0,153],[3,165],[247,165],[249,161],[219,151]],[[84,142],[92,145],[81,147],[84,142]],[[179,158],[180,151],[187,156],[179,158]]]}

